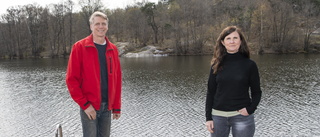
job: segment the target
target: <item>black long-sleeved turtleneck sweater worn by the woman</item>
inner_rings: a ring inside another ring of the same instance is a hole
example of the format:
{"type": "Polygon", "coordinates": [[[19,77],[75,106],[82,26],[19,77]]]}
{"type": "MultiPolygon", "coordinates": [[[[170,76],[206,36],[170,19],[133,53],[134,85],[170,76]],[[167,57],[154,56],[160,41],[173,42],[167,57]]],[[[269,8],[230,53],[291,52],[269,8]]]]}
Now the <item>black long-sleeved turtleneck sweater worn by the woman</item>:
{"type": "Polygon", "coordinates": [[[261,99],[260,77],[254,61],[240,53],[227,54],[221,71],[213,74],[212,67],[210,70],[205,108],[207,121],[212,120],[212,109],[246,108],[249,114],[254,113],[261,99]]]}

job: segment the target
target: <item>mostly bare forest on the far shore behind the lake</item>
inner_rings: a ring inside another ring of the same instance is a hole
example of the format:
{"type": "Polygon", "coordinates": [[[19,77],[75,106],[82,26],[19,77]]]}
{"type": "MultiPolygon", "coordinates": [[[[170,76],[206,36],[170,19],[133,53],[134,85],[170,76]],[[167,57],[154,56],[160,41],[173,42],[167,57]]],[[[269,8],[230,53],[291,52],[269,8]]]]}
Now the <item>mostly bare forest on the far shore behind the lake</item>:
{"type": "Polygon", "coordinates": [[[132,51],[154,45],[173,49],[171,55],[212,54],[221,30],[235,25],[253,54],[320,52],[320,0],[159,0],[117,9],[101,0],[65,0],[0,15],[0,58],[67,58],[91,33],[94,11],[108,15],[111,42],[129,42],[132,51]]]}

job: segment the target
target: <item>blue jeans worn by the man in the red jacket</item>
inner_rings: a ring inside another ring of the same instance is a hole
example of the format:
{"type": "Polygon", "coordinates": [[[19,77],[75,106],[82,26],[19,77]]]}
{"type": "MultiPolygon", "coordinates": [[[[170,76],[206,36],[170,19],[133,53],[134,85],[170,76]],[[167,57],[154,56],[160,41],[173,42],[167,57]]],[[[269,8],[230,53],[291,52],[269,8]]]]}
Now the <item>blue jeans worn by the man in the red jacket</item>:
{"type": "Polygon", "coordinates": [[[83,137],[109,137],[111,128],[111,111],[107,103],[101,103],[97,112],[97,118],[90,120],[87,114],[80,108],[83,137]]]}

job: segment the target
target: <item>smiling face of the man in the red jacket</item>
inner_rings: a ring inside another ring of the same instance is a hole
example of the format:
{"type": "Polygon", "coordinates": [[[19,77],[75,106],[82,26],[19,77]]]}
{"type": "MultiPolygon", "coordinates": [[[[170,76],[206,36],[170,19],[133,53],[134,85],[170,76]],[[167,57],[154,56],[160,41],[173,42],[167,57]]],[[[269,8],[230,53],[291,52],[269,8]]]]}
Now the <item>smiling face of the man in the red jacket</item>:
{"type": "Polygon", "coordinates": [[[108,31],[108,22],[102,17],[94,17],[90,29],[93,36],[104,37],[108,31]]]}

